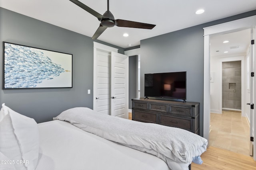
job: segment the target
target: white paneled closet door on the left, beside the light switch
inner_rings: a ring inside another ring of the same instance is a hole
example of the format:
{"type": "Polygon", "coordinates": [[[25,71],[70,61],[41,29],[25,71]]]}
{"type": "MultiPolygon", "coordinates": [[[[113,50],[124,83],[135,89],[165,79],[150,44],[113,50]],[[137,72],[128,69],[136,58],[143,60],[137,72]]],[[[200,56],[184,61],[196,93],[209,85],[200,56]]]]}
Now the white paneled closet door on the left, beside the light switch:
{"type": "Polygon", "coordinates": [[[110,52],[96,50],[94,59],[94,110],[110,115],[110,52]]]}

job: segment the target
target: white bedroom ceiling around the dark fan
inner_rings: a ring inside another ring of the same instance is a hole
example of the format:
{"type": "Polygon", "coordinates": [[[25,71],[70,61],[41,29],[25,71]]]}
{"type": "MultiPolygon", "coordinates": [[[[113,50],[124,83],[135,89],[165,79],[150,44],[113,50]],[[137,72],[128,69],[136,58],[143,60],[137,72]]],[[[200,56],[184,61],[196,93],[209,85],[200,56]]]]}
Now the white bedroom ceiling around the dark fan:
{"type": "MultiPolygon", "coordinates": [[[[104,14],[107,0],[80,0],[104,14]]],[[[69,0],[0,0],[0,7],[92,37],[100,21],[69,0]]],[[[128,48],[140,40],[256,9],[256,0],[110,0],[115,19],[155,24],[153,29],[114,26],[98,40],[128,48]],[[204,9],[203,14],[195,14],[204,9]],[[128,33],[129,37],[123,37],[128,33]]]]}

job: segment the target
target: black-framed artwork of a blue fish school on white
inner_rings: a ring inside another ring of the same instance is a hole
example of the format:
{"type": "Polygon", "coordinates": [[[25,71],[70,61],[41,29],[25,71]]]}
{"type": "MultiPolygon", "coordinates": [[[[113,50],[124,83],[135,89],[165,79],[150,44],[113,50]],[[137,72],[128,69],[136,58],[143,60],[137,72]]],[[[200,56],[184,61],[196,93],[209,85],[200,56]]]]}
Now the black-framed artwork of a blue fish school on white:
{"type": "Polygon", "coordinates": [[[3,89],[72,88],[72,54],[3,42],[3,89]]]}

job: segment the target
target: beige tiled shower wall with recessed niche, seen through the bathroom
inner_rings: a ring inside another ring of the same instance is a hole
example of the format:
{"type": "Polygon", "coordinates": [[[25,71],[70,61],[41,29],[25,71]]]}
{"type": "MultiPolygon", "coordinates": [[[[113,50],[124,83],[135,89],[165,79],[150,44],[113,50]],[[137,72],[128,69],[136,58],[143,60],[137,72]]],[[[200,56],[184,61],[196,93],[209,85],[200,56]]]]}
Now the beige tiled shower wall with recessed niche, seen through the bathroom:
{"type": "Polygon", "coordinates": [[[241,109],[241,61],[222,63],[222,108],[241,109]]]}

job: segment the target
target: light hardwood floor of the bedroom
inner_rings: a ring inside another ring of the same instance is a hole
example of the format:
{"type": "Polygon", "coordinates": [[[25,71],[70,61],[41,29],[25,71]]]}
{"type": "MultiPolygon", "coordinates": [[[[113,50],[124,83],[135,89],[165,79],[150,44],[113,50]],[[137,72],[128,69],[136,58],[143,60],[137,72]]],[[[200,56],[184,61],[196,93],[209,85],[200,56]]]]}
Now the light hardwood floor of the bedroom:
{"type": "MultiPolygon", "coordinates": [[[[132,119],[132,113],[129,113],[132,119]]],[[[192,170],[256,170],[256,162],[252,156],[220,149],[213,146],[201,155],[203,164],[192,163],[192,170]]]]}

